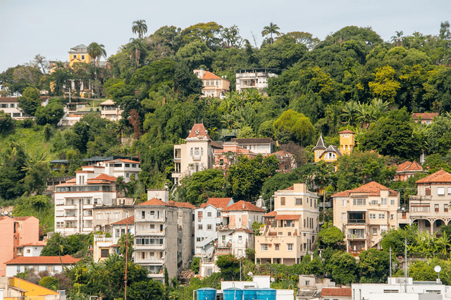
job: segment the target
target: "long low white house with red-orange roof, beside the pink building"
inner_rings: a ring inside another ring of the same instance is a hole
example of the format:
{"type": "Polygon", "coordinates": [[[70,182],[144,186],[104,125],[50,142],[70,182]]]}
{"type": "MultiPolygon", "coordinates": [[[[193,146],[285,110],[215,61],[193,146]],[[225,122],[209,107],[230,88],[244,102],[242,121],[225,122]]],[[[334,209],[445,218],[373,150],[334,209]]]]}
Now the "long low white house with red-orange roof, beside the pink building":
{"type": "Polygon", "coordinates": [[[11,261],[6,261],[6,276],[16,276],[18,273],[23,273],[26,270],[32,270],[36,273],[48,271],[51,275],[62,273],[61,261],[64,267],[68,268],[78,263],[80,259],[69,255],[61,256],[61,260],[59,256],[18,256],[11,259],[11,261]]]}

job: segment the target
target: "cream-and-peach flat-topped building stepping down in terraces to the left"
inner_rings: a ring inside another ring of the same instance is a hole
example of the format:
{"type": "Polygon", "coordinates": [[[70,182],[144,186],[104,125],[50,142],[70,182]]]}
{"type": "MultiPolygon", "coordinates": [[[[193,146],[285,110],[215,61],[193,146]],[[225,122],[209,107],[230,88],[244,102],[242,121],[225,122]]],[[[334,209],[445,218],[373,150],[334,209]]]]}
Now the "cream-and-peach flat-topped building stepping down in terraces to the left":
{"type": "Polygon", "coordinates": [[[255,259],[261,263],[300,263],[314,249],[319,231],[318,196],[304,183],[274,194],[274,211],[264,215],[255,237],[255,259]]]}

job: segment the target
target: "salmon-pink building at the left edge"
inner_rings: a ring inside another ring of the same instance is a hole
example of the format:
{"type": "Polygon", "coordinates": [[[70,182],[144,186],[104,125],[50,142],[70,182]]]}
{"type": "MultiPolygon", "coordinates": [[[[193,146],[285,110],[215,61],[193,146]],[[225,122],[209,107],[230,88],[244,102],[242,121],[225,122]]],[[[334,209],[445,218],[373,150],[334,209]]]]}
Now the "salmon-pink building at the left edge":
{"type": "Polygon", "coordinates": [[[17,247],[39,241],[39,219],[0,217],[0,277],[6,275],[6,261],[16,258],[17,247]]]}

